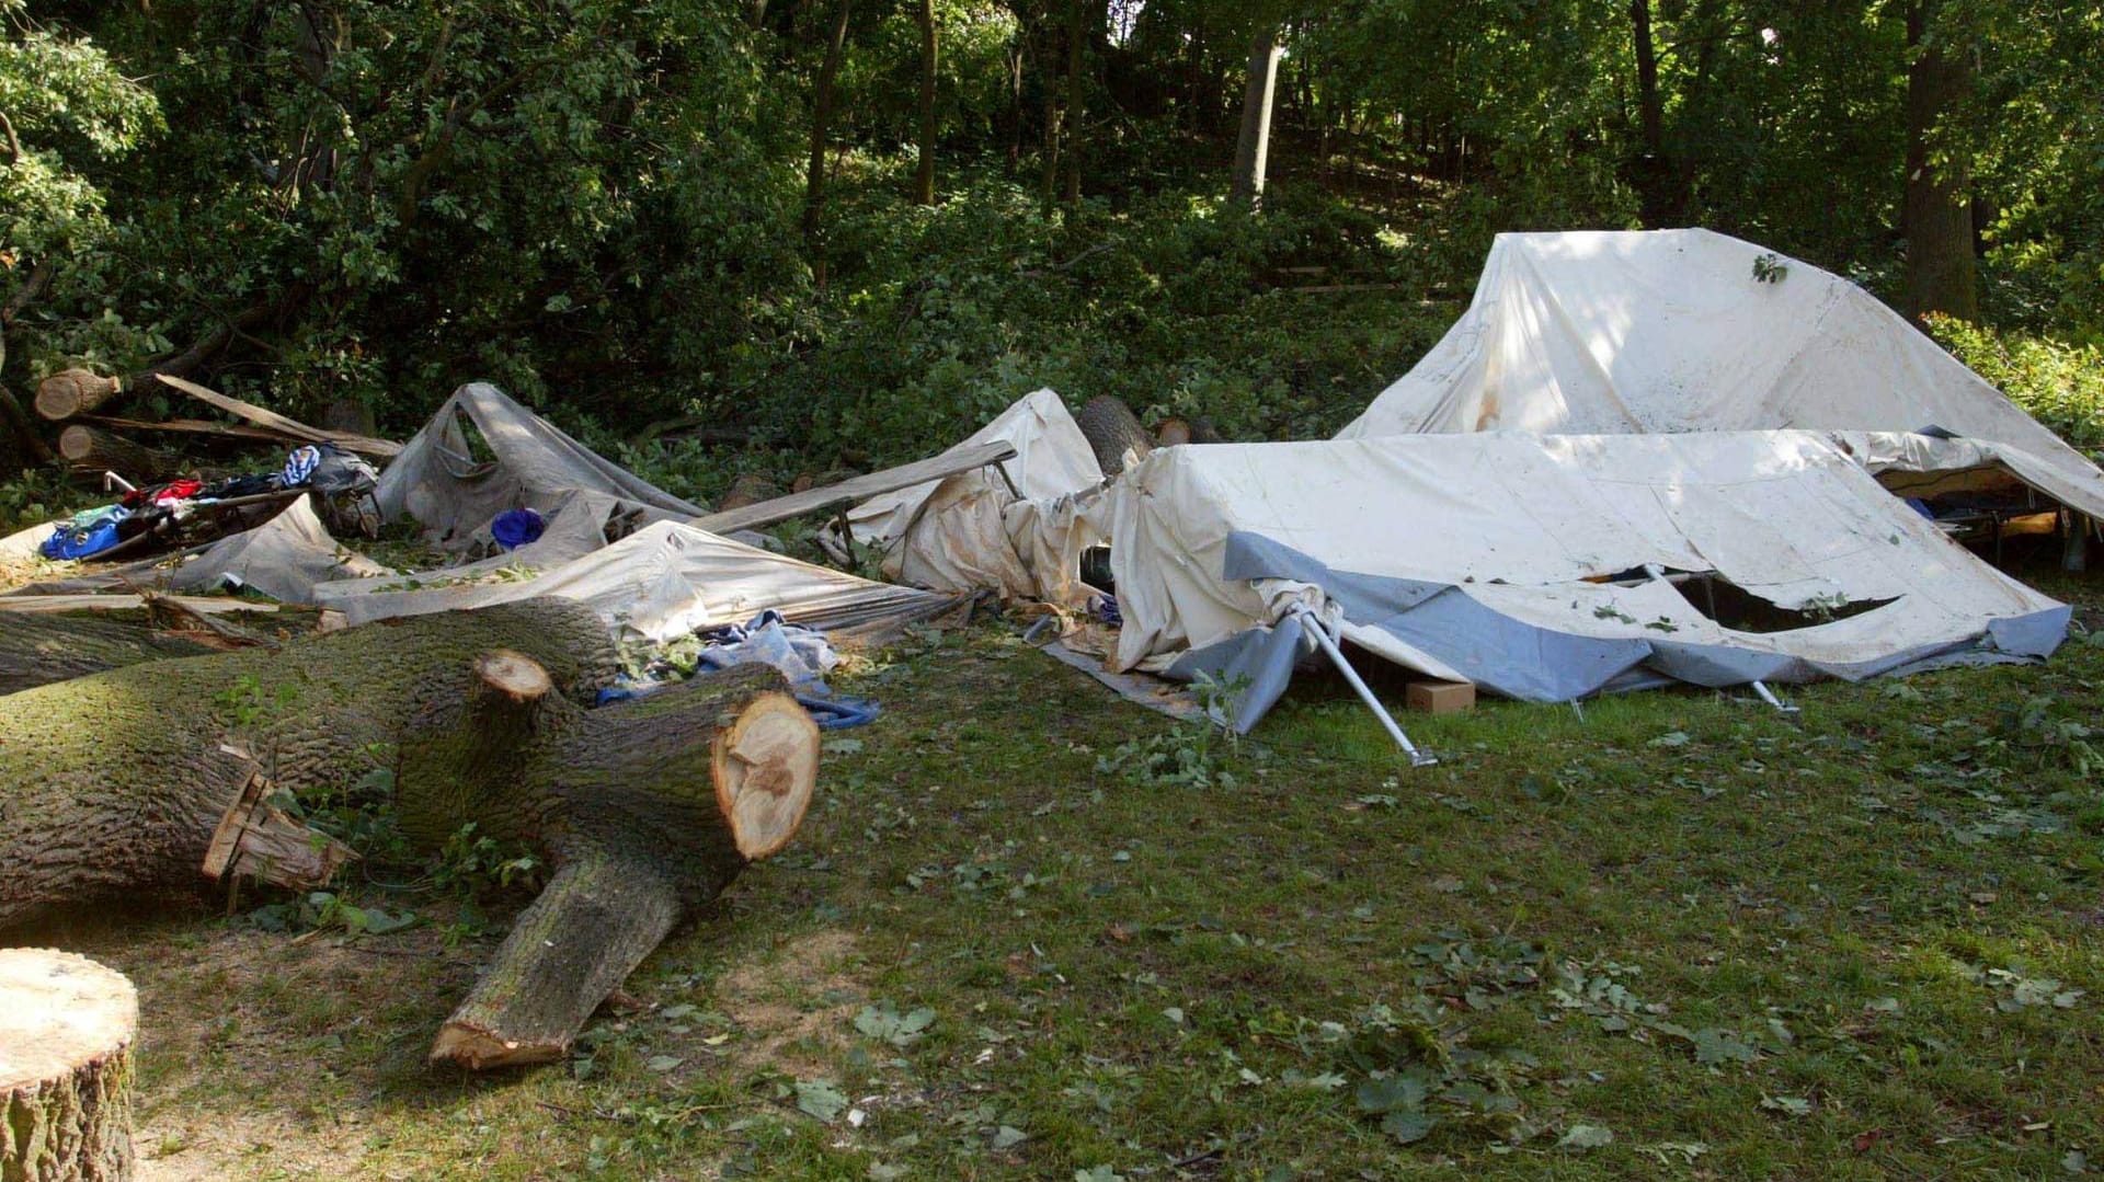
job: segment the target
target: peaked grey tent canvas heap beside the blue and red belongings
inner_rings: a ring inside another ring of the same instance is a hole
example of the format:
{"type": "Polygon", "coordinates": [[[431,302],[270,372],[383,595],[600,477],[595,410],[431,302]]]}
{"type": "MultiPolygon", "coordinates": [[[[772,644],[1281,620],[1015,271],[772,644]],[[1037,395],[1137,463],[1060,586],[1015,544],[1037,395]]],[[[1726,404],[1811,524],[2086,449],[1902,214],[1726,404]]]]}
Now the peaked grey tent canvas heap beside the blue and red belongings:
{"type": "Polygon", "coordinates": [[[570,492],[627,501],[650,519],[707,511],[600,456],[488,383],[452,391],[387,465],[375,496],[385,517],[414,517],[436,545],[461,551],[499,513],[549,515],[570,492]]]}

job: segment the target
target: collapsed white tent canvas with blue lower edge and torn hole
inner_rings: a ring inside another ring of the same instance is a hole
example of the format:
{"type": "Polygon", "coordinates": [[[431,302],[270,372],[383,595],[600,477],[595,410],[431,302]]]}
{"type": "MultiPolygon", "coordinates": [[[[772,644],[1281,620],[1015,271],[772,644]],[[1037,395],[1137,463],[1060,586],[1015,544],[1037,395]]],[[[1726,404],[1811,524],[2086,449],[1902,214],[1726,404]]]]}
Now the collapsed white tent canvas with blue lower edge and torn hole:
{"type": "Polygon", "coordinates": [[[1294,604],[1397,665],[1525,700],[2037,658],[2068,623],[1812,431],[1166,448],[1113,486],[1109,519],[1113,667],[1241,671],[1271,696],[1294,604]],[[1673,572],[1833,618],[1732,629],[1673,572]]]}

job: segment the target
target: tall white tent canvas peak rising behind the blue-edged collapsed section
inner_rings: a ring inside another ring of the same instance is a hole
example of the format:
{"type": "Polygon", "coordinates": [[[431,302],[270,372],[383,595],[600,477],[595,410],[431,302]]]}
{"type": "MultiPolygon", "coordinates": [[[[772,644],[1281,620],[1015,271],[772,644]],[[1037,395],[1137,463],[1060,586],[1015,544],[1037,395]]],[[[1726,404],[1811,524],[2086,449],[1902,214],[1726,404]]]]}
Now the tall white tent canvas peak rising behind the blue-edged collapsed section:
{"type": "Polygon", "coordinates": [[[2104,511],[2093,463],[1873,294],[1738,238],[1654,229],[1500,233],[1462,318],[1338,437],[1929,427],[2104,511]]]}

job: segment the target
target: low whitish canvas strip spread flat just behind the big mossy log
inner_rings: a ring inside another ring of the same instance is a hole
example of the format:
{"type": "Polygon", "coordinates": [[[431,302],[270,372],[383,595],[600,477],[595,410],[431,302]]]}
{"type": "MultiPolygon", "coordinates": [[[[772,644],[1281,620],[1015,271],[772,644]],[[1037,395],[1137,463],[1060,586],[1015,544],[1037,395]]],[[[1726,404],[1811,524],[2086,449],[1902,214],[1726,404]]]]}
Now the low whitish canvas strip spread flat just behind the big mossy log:
{"type": "MultiPolygon", "coordinates": [[[[589,505],[589,498],[576,505],[589,505]]],[[[562,515],[549,522],[549,532],[539,543],[509,555],[518,566],[492,559],[419,574],[414,580],[328,583],[316,597],[324,608],[343,612],[349,625],[362,625],[562,595],[589,604],[616,633],[652,641],[739,625],[766,608],[835,639],[867,637],[955,606],[951,595],[871,583],[677,522],[656,522],[539,572],[524,566],[560,553],[528,553],[551,541],[562,545],[553,536],[558,528],[566,528],[562,515]]]]}

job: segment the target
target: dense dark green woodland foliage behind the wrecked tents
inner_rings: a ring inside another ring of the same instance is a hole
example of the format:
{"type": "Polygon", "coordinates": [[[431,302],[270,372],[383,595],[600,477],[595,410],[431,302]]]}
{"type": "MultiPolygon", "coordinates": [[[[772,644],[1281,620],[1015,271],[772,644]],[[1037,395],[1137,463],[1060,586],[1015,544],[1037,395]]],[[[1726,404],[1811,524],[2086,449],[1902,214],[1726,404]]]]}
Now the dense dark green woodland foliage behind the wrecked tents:
{"type": "MultiPolygon", "coordinates": [[[[402,429],[492,379],[606,446],[705,425],[776,467],[919,452],[1039,385],[1302,435],[1517,227],[1711,225],[1978,307],[1963,341],[2068,374],[2104,341],[2096,6],[0,0],[0,25],[15,391],[173,366],[402,429]],[[1262,38],[1252,210],[1229,168],[1262,38]],[[1921,193],[1961,223],[1910,233],[1921,193]]],[[[722,480],[696,448],[627,458],[722,480]]]]}

